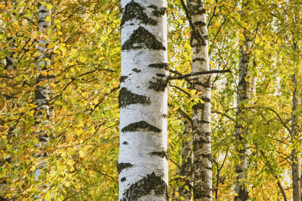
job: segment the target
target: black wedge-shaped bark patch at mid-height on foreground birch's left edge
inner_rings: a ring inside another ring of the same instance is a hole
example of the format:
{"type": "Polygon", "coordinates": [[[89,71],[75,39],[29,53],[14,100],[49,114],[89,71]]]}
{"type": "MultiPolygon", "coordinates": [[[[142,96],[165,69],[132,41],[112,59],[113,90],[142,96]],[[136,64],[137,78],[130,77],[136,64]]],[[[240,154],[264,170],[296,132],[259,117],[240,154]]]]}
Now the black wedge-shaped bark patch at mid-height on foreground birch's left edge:
{"type": "Polygon", "coordinates": [[[130,92],[125,87],[122,87],[118,95],[119,108],[130,104],[150,104],[150,99],[143,95],[138,95],[130,92]]]}

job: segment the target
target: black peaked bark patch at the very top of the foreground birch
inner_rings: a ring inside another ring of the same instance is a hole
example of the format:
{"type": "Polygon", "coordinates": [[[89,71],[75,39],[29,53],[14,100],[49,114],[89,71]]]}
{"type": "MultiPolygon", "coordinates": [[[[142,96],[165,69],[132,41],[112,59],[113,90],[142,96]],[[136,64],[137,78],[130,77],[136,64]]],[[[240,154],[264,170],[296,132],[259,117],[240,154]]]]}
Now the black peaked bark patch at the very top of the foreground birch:
{"type": "Polygon", "coordinates": [[[123,26],[127,21],[137,19],[142,21],[142,23],[146,25],[157,25],[157,21],[148,17],[145,12],[146,8],[141,6],[139,3],[134,0],[127,3],[125,6],[125,10],[122,13],[122,19],[120,21],[120,26],[123,26]]]}

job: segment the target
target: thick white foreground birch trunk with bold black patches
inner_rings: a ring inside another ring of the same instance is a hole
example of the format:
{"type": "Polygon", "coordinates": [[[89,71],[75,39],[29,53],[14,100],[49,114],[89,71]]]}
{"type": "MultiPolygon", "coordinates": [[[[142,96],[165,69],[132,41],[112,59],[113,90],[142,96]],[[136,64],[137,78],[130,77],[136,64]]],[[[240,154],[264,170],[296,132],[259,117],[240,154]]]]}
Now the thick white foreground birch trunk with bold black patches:
{"type": "Polygon", "coordinates": [[[168,201],[166,0],[121,0],[119,201],[168,201]]]}

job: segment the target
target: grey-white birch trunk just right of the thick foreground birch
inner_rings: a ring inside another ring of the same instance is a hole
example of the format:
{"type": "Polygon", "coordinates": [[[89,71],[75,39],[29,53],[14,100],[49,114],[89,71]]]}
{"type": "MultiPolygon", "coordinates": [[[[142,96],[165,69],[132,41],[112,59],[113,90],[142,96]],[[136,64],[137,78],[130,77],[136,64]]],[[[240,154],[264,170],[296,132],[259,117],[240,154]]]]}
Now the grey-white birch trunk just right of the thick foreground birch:
{"type": "MultiPolygon", "coordinates": [[[[208,30],[203,0],[187,0],[189,15],[195,30],[191,31],[192,72],[209,70],[208,30]],[[201,37],[200,37],[201,36],[201,37]]],[[[193,132],[193,196],[194,201],[212,201],[211,163],[211,75],[198,75],[193,87],[201,92],[199,102],[192,107],[193,132]]]]}

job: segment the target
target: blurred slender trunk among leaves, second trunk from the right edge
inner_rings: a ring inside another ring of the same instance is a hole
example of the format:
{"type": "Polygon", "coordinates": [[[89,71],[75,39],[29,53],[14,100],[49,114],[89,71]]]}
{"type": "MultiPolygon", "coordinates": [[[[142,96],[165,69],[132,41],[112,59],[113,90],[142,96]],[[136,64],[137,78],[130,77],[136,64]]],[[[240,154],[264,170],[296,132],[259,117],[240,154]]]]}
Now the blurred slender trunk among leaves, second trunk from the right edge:
{"type": "MultiPolygon", "coordinates": [[[[251,86],[249,81],[250,73],[248,71],[249,60],[250,60],[250,48],[252,47],[252,41],[245,34],[245,41],[240,46],[240,62],[239,62],[239,80],[238,80],[238,94],[237,94],[237,106],[243,106],[250,100],[251,86]]],[[[248,188],[245,186],[245,180],[247,178],[249,150],[247,139],[244,137],[244,127],[239,122],[242,119],[243,110],[238,108],[236,112],[237,123],[235,126],[235,136],[238,140],[237,152],[239,154],[239,165],[235,167],[235,172],[238,174],[235,183],[235,201],[246,201],[249,198],[248,188]],[[238,148],[241,147],[241,148],[238,148]]]]}

